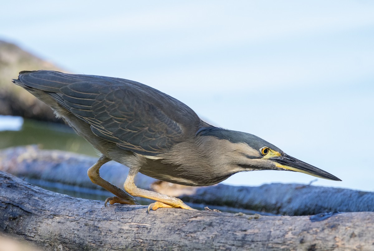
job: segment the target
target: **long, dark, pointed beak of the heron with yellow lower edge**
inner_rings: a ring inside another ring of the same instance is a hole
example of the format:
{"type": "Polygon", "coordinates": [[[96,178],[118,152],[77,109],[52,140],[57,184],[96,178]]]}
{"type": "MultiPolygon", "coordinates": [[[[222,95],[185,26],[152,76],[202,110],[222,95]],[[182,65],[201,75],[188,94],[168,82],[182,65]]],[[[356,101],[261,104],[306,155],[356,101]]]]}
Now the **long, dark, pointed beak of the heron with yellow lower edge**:
{"type": "Polygon", "coordinates": [[[317,167],[313,167],[313,165],[309,165],[301,160],[298,160],[286,154],[282,154],[279,157],[272,158],[272,160],[275,161],[276,166],[279,168],[284,168],[289,171],[306,173],[322,179],[341,181],[341,179],[335,177],[334,175],[328,172],[325,172],[324,170],[321,170],[317,167]]]}

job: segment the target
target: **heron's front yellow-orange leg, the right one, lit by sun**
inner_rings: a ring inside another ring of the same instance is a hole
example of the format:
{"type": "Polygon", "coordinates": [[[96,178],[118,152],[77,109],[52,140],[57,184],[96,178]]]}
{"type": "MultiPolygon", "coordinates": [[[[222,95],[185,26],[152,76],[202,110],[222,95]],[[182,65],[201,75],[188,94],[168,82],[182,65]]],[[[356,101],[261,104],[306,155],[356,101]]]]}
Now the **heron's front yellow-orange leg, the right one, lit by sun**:
{"type": "Polygon", "coordinates": [[[148,213],[150,209],[156,210],[157,208],[161,208],[161,207],[174,207],[174,208],[196,210],[184,204],[181,199],[175,198],[173,196],[137,188],[137,186],[135,186],[135,183],[134,183],[134,178],[135,178],[135,175],[138,173],[138,170],[139,168],[130,167],[129,175],[127,176],[126,181],[123,184],[123,188],[126,190],[126,192],[128,192],[132,196],[139,196],[139,197],[155,200],[156,202],[151,203],[148,206],[148,213]]]}

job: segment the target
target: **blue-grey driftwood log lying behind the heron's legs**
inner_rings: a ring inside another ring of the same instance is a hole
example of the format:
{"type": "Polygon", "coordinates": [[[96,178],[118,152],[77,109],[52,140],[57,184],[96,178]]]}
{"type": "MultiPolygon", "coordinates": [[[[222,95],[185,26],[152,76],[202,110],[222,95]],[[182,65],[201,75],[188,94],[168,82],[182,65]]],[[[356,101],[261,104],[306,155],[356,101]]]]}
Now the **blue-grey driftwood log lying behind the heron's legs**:
{"type": "MultiPolygon", "coordinates": [[[[96,158],[62,151],[40,150],[36,146],[0,151],[0,170],[18,177],[28,177],[29,180],[34,179],[33,181],[42,180],[44,186],[51,188],[63,186],[111,196],[93,184],[86,174],[88,167],[95,162],[96,158]]],[[[128,168],[111,161],[101,168],[100,173],[104,179],[122,187],[128,168]]],[[[239,208],[244,213],[255,210],[282,215],[309,215],[326,211],[374,211],[373,192],[299,184],[270,184],[259,187],[219,184],[197,188],[155,181],[138,174],[135,183],[140,188],[151,187],[157,192],[179,196],[192,206],[191,203],[208,205],[225,211],[237,212],[239,208]]]]}

